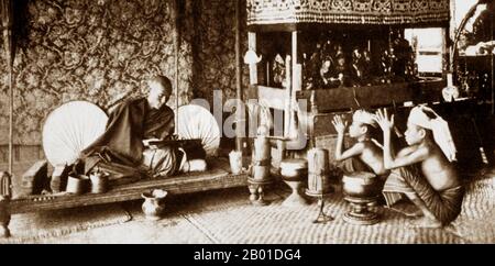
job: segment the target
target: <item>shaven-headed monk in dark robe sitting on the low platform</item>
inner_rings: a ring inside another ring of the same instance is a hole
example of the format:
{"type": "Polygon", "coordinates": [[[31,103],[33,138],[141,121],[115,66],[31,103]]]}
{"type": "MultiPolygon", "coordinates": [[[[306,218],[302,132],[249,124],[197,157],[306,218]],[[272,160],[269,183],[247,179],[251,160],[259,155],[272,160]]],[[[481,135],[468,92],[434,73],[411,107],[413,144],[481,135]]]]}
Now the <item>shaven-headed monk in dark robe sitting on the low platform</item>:
{"type": "Polygon", "coordinates": [[[156,145],[174,138],[174,111],[166,106],[172,84],[164,76],[155,76],[147,86],[147,97],[117,106],[109,114],[106,132],[81,152],[85,173],[99,166],[122,171],[120,177],[163,177],[206,169],[201,146],[156,145]]]}

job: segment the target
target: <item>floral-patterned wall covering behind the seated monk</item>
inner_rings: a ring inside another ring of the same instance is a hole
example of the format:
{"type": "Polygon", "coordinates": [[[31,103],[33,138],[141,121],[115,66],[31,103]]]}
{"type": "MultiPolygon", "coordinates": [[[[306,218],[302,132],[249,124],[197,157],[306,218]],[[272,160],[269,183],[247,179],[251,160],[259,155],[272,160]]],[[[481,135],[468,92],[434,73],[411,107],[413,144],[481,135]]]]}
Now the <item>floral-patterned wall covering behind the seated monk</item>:
{"type": "MultiPolygon", "coordinates": [[[[25,34],[14,40],[14,144],[38,145],[44,119],[67,101],[87,100],[107,109],[121,98],[140,95],[151,75],[173,79],[174,22],[168,4],[161,0],[28,1],[25,34]]],[[[0,145],[8,143],[9,130],[4,56],[0,56],[0,145]]],[[[193,93],[191,56],[190,45],[183,44],[182,104],[193,93]]]]}

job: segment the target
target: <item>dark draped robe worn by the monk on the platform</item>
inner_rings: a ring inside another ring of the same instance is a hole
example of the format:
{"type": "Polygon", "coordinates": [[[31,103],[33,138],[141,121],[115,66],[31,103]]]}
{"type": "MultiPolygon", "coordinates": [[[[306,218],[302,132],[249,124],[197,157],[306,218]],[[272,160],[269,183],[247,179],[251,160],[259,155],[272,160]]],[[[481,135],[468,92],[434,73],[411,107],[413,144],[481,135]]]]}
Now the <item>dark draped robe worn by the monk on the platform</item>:
{"type": "Polygon", "coordinates": [[[151,151],[143,140],[166,140],[174,132],[174,111],[153,109],[145,98],[125,101],[109,114],[105,133],[81,152],[85,173],[96,166],[121,177],[169,176],[179,169],[183,153],[176,147],[151,151]]]}

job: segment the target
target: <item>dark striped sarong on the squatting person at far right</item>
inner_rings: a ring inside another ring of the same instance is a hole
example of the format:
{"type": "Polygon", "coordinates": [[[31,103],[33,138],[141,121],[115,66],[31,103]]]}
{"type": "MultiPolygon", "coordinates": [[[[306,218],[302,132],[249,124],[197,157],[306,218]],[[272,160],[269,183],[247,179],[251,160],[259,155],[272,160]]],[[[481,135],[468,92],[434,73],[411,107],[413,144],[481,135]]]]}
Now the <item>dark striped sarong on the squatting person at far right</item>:
{"type": "Polygon", "coordinates": [[[422,176],[417,165],[392,170],[383,188],[387,206],[400,200],[403,195],[419,197],[428,210],[447,225],[461,212],[464,189],[462,186],[437,191],[422,176]]]}

